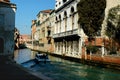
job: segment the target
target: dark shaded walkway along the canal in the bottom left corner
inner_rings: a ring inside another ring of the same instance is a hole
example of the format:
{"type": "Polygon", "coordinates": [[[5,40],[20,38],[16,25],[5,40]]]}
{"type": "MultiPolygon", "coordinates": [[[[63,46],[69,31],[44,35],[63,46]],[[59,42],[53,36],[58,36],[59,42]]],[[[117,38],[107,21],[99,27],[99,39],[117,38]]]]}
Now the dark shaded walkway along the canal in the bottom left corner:
{"type": "Polygon", "coordinates": [[[49,80],[42,75],[34,75],[25,70],[10,57],[0,56],[0,80],[49,80]],[[41,78],[40,78],[41,77],[41,78]]]}

